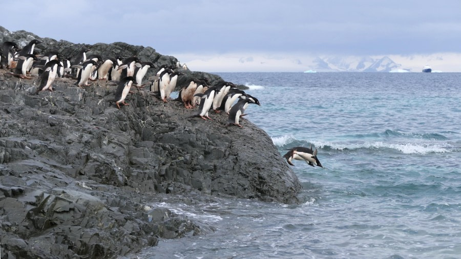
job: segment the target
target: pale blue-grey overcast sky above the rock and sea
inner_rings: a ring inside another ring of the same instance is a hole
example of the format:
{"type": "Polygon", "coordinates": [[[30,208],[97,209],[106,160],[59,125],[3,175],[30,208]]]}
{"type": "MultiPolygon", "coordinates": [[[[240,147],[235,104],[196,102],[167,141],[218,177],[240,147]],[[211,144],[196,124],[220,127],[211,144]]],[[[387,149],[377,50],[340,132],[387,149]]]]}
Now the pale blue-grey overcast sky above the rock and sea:
{"type": "Polygon", "coordinates": [[[18,0],[2,10],[9,31],[149,46],[197,71],[296,72],[318,56],[392,56],[403,67],[461,72],[458,0],[18,0]]]}

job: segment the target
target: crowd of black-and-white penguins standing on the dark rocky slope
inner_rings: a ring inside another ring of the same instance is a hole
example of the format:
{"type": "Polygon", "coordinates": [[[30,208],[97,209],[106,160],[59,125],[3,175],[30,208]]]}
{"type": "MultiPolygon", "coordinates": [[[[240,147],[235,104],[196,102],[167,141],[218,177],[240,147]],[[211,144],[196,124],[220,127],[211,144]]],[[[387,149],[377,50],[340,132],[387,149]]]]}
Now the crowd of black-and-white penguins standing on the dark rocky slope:
{"type": "MultiPolygon", "coordinates": [[[[56,77],[75,79],[75,85],[85,88],[91,85],[91,81],[106,80],[117,85],[115,91],[115,105],[129,105],[125,99],[132,93],[131,87],[148,88],[154,92],[154,96],[160,101],[168,102],[171,94],[177,88],[178,77],[183,76],[182,71],[190,71],[186,64],[176,62],[176,66],[163,64],[156,66],[152,61],[140,60],[137,56],[103,58],[101,55],[87,53],[91,47],[83,47],[72,56],[61,55],[57,51],[49,51],[40,54],[35,46],[42,42],[33,39],[23,48],[19,48],[15,42],[5,41],[0,49],[0,67],[9,69],[11,74],[21,79],[39,77],[37,90],[53,92],[53,82],[56,77]],[[143,82],[143,78],[149,69],[158,69],[152,82],[143,82]],[[178,71],[178,69],[180,71],[178,71]]],[[[209,78],[191,77],[179,86],[178,98],[175,101],[183,103],[185,109],[195,109],[195,115],[204,120],[212,119],[208,112],[213,110],[216,114],[221,111],[228,116],[229,125],[240,124],[240,118],[245,116],[248,104],[261,105],[256,97],[246,94],[237,89],[232,82],[218,82],[212,85],[209,78]]]]}

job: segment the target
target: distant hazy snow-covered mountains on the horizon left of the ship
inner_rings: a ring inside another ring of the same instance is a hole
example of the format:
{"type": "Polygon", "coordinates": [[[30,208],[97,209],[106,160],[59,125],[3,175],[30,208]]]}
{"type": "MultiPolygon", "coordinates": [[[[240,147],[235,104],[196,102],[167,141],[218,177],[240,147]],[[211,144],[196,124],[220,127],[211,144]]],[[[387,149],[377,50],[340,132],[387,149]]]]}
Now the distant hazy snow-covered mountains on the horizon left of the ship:
{"type": "Polygon", "coordinates": [[[321,72],[389,72],[402,67],[387,56],[380,58],[325,56],[315,58],[312,63],[315,64],[312,69],[321,72]]]}

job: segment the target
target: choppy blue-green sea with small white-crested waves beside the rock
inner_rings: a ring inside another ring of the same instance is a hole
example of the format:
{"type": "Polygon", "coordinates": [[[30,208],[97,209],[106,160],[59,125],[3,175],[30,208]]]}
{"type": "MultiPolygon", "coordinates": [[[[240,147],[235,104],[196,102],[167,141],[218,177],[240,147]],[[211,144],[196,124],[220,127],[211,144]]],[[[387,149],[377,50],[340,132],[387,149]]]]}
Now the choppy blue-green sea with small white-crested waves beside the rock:
{"type": "Polygon", "coordinates": [[[294,161],[299,205],[153,204],[215,231],[139,257],[461,258],[461,73],[217,74],[281,156],[312,144],[324,168],[294,161]]]}

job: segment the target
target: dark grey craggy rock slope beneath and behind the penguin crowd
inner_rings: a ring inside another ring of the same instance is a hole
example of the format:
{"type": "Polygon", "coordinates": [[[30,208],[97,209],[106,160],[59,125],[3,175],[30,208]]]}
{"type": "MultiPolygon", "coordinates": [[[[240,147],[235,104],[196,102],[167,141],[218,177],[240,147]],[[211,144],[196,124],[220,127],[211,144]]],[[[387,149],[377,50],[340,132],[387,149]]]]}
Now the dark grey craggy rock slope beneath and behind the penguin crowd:
{"type": "MultiPolygon", "coordinates": [[[[71,54],[82,46],[24,31],[0,28],[0,33],[2,41],[40,39],[39,52],[71,54]]],[[[158,65],[177,61],[121,42],[96,44],[91,54],[137,55],[158,65]]],[[[183,80],[204,74],[186,71],[183,80]]],[[[222,80],[206,76],[212,83],[222,80]]],[[[159,239],[213,231],[152,206],[165,199],[299,202],[302,187],[294,172],[270,137],[250,121],[238,128],[224,127],[223,114],[211,115],[213,121],[187,119],[196,111],[179,102],[163,103],[144,89],[133,89],[130,105],[118,110],[109,102],[115,86],[96,81],[82,89],[74,82],[56,78],[54,92],[31,95],[37,79],[0,72],[0,247],[5,258],[129,256],[159,239]]]]}

